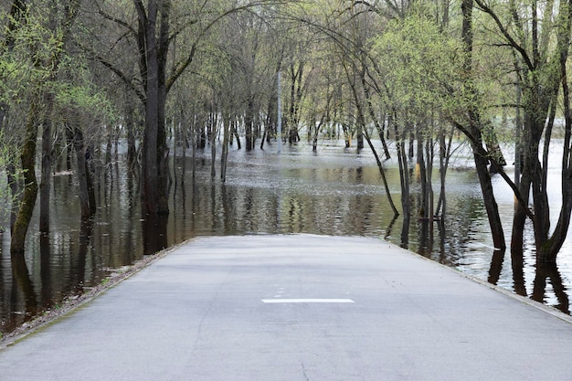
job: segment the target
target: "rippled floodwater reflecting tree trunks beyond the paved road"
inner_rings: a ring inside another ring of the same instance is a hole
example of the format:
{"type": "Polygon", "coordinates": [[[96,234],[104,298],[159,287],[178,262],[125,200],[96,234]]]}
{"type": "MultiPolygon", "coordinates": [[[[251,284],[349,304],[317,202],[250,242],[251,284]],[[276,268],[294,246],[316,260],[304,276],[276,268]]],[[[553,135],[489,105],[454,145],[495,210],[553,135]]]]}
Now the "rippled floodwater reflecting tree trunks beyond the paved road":
{"type": "MultiPolygon", "coordinates": [[[[509,252],[495,252],[471,154],[466,149],[455,153],[447,180],[447,215],[432,230],[427,221],[417,218],[412,218],[409,227],[404,227],[403,218],[393,219],[368,149],[358,152],[344,148],[343,142],[325,141],[317,153],[305,144],[285,146],[281,154],[276,153],[276,145],[264,151],[231,150],[225,184],[219,180],[218,163],[217,176],[211,177],[208,151],[197,153],[195,181],[190,158],[185,163],[181,158],[175,161],[171,214],[154,221],[142,219],[138,179],[128,174],[121,162],[111,164],[101,174],[98,212],[90,222],[80,221],[73,175],[55,175],[51,231],[40,236],[34,218],[25,260],[11,258],[9,232],[0,233],[0,332],[9,332],[37,313],[57,308],[63,299],[100,283],[111,271],[121,270],[146,254],[188,238],[212,235],[311,233],[387,239],[568,312],[572,289],[570,238],[556,268],[535,269],[532,249],[526,249],[524,257],[518,259],[512,259],[509,252]]],[[[387,162],[387,178],[400,208],[396,166],[387,162]]],[[[511,170],[507,167],[507,172],[511,170]]],[[[437,170],[434,172],[438,175],[437,170]]],[[[556,203],[557,175],[555,168],[549,181],[556,203]]],[[[510,236],[514,199],[499,176],[494,181],[505,233],[510,236]]],[[[434,188],[437,199],[437,180],[434,188]]],[[[413,185],[413,197],[415,189],[413,185]]],[[[556,212],[553,215],[557,217],[556,212]]],[[[531,239],[527,238],[528,248],[531,239]]]]}

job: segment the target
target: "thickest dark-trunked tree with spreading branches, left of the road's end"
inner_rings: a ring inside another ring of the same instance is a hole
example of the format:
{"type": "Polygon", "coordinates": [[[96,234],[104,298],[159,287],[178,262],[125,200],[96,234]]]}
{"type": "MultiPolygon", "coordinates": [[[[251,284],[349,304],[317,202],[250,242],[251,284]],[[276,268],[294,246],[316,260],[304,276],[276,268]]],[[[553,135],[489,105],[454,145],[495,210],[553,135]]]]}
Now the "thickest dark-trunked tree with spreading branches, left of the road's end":
{"type": "Polygon", "coordinates": [[[167,94],[194,61],[197,50],[214,26],[234,13],[273,3],[275,2],[260,0],[236,4],[228,4],[225,1],[197,1],[189,4],[182,1],[148,0],[145,5],[143,0],[132,0],[136,11],[134,20],[130,18],[129,12],[125,12],[128,3],[124,1],[113,3],[100,0],[97,3],[98,13],[113,25],[118,33],[115,37],[117,45],[111,44],[111,49],[115,50],[118,45],[123,47],[124,44],[120,42],[123,42],[126,36],[136,47],[132,57],[122,55],[121,59],[111,57],[111,50],[90,50],[94,58],[119,76],[143,102],[143,214],[169,212],[169,150],[164,125],[167,94]],[[185,49],[178,50],[177,58],[172,59],[169,58],[169,51],[177,41],[177,36],[186,36],[190,42],[185,44],[185,49]],[[125,68],[132,68],[132,65],[125,66],[122,62],[124,59],[134,59],[139,68],[139,80],[127,75],[125,68]]]}

